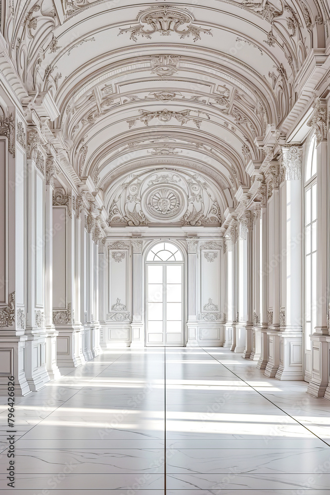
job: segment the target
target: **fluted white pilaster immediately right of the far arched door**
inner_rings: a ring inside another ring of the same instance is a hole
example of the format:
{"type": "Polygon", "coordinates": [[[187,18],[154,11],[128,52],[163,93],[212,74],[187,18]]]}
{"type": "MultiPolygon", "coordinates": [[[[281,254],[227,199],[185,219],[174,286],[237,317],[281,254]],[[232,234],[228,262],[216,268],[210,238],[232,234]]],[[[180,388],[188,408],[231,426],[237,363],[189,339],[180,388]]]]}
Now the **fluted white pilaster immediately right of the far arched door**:
{"type": "Polygon", "coordinates": [[[195,239],[187,241],[188,248],[188,322],[187,347],[198,346],[198,322],[197,322],[197,246],[195,239]]]}

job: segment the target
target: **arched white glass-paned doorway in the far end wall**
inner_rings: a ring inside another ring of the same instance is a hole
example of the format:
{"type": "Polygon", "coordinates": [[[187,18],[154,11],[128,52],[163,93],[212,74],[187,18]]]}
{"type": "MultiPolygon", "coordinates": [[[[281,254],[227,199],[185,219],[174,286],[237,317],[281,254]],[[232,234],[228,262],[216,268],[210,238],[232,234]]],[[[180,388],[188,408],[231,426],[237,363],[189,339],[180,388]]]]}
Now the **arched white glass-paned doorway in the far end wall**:
{"type": "Polygon", "coordinates": [[[184,258],[172,243],[157,243],[146,256],[145,345],[184,345],[184,258]]]}

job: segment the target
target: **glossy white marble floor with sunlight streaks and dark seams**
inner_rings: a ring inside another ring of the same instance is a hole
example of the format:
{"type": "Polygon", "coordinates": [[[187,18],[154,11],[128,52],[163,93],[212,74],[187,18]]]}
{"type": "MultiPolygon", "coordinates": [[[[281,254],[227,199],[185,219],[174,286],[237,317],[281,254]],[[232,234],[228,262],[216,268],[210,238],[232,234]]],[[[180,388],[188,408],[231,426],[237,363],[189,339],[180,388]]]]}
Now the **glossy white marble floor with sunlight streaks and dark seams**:
{"type": "Polygon", "coordinates": [[[330,495],[330,403],[304,382],[223,348],[116,349],[65,373],[16,400],[15,490],[1,405],[0,494],[330,495]]]}

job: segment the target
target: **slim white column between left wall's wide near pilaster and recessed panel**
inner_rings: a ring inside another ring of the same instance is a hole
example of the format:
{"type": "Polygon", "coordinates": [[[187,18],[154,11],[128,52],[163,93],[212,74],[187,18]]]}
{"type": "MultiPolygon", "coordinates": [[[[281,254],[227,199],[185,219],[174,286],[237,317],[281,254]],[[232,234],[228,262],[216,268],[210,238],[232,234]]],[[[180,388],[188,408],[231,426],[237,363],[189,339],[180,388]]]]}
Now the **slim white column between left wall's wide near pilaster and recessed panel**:
{"type": "Polygon", "coordinates": [[[46,313],[46,369],[51,380],[61,376],[56,362],[56,337],[58,332],[53,324],[53,189],[54,189],[55,164],[51,156],[46,160],[46,237],[45,237],[45,313],[46,313]]]}

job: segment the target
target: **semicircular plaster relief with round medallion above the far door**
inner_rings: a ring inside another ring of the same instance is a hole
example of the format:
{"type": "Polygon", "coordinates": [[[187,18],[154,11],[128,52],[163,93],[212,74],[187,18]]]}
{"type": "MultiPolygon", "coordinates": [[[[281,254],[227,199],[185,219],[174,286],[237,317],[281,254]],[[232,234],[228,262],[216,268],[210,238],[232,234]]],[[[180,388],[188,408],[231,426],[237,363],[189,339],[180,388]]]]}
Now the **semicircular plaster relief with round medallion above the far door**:
{"type": "Polygon", "coordinates": [[[199,174],[160,169],[128,175],[110,197],[108,224],[218,226],[217,194],[199,174]]]}

